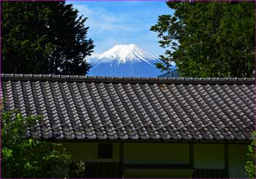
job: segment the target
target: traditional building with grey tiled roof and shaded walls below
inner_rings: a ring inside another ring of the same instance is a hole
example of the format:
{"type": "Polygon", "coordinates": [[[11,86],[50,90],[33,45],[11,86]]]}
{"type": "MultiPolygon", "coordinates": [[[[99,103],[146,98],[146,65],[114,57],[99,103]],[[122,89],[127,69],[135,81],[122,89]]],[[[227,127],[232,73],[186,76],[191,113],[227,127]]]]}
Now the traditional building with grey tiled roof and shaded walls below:
{"type": "Polygon", "coordinates": [[[246,178],[255,80],[1,75],[28,135],[64,143],[86,177],[246,178]]]}

